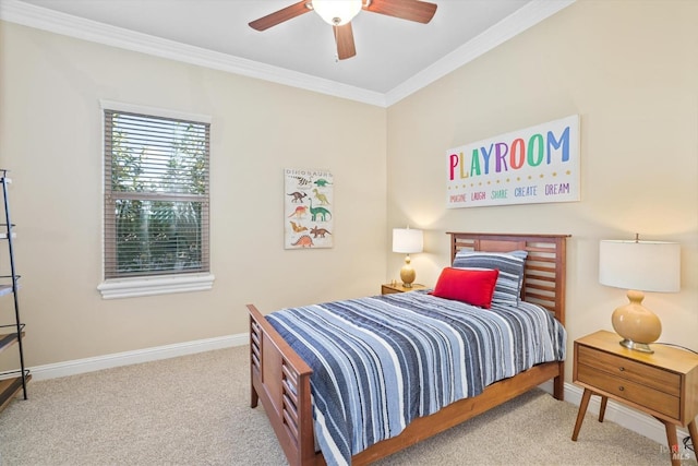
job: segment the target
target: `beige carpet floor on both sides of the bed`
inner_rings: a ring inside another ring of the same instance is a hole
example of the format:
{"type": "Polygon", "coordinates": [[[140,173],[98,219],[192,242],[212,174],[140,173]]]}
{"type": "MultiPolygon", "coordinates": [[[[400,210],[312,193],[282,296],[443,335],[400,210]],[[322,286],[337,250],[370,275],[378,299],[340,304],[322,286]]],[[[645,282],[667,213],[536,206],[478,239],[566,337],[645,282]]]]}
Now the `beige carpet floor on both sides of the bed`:
{"type": "MultiPolygon", "coordinates": [[[[248,348],[31,382],[0,413],[0,465],[282,465],[249,407],[248,348]]],[[[533,391],[380,465],[669,465],[662,445],[533,391]]],[[[696,462],[684,462],[696,465],[696,462]]]]}

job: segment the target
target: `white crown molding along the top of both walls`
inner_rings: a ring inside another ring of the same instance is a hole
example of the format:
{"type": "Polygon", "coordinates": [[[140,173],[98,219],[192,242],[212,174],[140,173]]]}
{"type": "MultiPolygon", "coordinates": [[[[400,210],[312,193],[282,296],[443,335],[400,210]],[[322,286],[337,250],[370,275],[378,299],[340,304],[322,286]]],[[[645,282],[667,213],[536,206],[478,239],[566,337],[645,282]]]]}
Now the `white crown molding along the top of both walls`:
{"type": "Polygon", "coordinates": [[[389,107],[538,24],[576,0],[533,0],[488,31],[386,94],[194,47],[174,40],[60,13],[19,0],[2,0],[0,20],[83,40],[303,88],[335,97],[389,107]]]}

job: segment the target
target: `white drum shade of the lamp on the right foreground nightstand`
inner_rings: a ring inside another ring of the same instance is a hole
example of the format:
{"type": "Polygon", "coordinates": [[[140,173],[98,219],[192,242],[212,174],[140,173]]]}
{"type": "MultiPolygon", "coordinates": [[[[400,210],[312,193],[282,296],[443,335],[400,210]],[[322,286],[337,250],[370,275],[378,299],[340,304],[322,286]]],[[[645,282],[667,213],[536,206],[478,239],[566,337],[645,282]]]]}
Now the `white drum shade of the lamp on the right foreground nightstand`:
{"type": "Polygon", "coordinates": [[[676,292],[681,289],[681,246],[603,240],[599,247],[599,282],[638,291],[676,292]]]}

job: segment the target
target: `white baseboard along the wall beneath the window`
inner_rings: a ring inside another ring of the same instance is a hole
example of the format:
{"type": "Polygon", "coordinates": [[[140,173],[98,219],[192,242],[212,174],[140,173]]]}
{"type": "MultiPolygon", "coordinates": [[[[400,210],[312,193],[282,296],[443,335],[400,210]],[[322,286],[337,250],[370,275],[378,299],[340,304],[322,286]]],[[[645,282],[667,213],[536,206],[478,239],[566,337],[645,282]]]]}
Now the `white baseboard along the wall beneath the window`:
{"type": "Polygon", "coordinates": [[[47,380],[59,377],[75,375],[120,366],[137,365],[141,362],[157,361],[159,359],[176,358],[214,349],[242,346],[250,343],[248,334],[227,335],[216,338],[197,339],[194,342],[177,343],[173,345],[157,346],[154,348],[137,349],[134,351],[116,353],[112,355],[97,356],[94,358],[75,359],[72,361],[56,362],[52,365],[35,366],[29,368],[32,379],[47,380]]]}

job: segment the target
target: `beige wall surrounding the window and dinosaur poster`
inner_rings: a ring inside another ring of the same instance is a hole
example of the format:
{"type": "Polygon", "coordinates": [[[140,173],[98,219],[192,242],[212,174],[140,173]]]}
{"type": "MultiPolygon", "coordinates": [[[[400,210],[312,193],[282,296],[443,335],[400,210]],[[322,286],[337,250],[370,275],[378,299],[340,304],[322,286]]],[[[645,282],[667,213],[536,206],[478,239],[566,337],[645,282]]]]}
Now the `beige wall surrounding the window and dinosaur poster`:
{"type": "Polygon", "coordinates": [[[0,167],[12,169],[27,363],[243,334],[246,302],[270,311],[378,292],[385,116],[375,106],[0,23],[0,167]],[[213,290],[101,299],[100,99],[213,118],[213,290]],[[333,249],[284,250],[289,167],[333,172],[333,249]]]}

